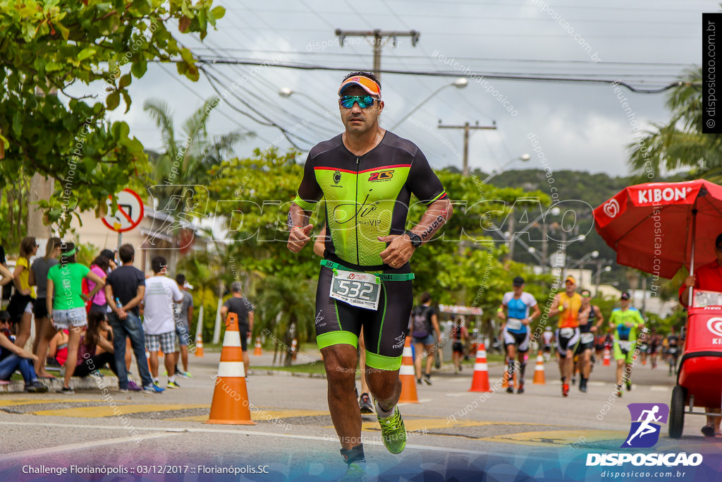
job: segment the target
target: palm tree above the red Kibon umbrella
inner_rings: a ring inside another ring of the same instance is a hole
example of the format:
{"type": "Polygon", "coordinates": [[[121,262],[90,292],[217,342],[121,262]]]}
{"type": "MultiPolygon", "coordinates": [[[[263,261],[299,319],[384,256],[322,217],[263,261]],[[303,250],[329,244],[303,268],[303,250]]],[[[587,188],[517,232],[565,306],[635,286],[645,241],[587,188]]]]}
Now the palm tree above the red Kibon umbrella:
{"type": "Polygon", "coordinates": [[[627,146],[632,173],[643,176],[648,168],[655,173],[662,168],[689,168],[690,178],[722,181],[722,135],[702,133],[702,104],[702,69],[693,67],[684,71],[682,85],[667,95],[669,122],[653,124],[655,130],[627,146]]]}

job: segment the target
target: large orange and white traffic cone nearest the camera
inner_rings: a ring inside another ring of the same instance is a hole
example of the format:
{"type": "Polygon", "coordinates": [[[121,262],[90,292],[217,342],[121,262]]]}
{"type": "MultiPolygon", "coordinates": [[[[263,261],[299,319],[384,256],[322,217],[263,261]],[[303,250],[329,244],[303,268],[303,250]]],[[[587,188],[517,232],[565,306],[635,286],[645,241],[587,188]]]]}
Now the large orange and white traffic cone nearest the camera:
{"type": "Polygon", "coordinates": [[[221,361],[218,364],[216,387],[213,390],[211,413],[204,423],[256,425],[251,421],[248,390],[245,387],[243,350],[238,332],[238,315],[229,313],[223,336],[221,361]]]}

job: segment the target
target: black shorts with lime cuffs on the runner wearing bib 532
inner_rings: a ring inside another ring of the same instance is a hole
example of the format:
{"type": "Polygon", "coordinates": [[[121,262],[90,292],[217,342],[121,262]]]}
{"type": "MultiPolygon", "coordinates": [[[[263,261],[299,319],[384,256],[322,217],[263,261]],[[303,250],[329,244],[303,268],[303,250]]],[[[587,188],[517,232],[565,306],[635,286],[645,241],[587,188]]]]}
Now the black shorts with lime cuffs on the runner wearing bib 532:
{"type": "MultiPolygon", "coordinates": [[[[409,264],[385,273],[408,273],[409,264]]],[[[412,281],[381,281],[376,311],[351,306],[329,296],[333,271],[321,267],[316,288],[316,343],[318,348],[347,344],[358,346],[363,329],[366,365],[379,370],[398,370],[404,351],[409,317],[414,304],[412,281]]]]}

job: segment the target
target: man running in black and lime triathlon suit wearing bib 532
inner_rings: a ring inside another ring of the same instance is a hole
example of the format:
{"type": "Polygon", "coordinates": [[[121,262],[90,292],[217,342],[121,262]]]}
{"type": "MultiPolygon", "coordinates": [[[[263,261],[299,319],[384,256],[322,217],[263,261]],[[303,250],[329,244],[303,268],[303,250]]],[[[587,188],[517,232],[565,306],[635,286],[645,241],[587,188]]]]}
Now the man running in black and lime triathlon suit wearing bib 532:
{"type": "Polygon", "coordinates": [[[316,340],[329,383],[329,410],[341,439],[347,480],[362,478],[365,455],[354,394],[356,346],[366,340],[366,380],[376,400],[383,443],[398,454],[406,429],[396,403],[399,367],[412,309],[409,258],[451,217],[451,202],[421,150],[382,129],[378,79],[353,72],[339,87],[343,134],[308,153],[291,204],[288,248],[310,241],[311,212],[326,198],[325,257],[316,291],[316,340]],[[427,210],[406,231],[411,194],[427,210]]]}

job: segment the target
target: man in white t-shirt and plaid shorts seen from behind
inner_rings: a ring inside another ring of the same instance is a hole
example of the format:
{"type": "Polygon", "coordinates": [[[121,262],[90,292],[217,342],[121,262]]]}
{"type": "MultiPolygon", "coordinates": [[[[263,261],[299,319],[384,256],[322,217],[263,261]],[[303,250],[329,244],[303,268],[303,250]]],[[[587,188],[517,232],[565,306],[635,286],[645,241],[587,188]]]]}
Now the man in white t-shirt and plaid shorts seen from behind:
{"type": "MultiPolygon", "coordinates": [[[[158,350],[165,353],[165,370],[168,374],[168,388],[179,388],[175,382],[175,322],[173,318],[173,301],[181,303],[183,293],[175,280],[166,276],[168,262],[162,256],[150,261],[153,275],[145,280],[145,295],[143,296],[143,315],[145,330],[145,344],[150,353],[150,373],[153,383],[158,382],[158,350]]],[[[137,355],[136,355],[137,356],[137,355]]]]}

